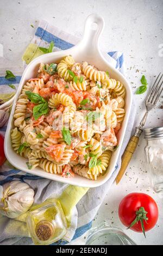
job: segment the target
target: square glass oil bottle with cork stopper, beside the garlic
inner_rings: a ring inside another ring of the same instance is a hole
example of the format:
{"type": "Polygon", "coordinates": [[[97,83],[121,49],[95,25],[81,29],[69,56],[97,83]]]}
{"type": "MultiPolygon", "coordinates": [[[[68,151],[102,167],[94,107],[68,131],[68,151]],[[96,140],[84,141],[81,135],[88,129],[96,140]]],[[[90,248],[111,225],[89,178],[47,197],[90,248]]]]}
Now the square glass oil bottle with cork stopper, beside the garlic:
{"type": "Polygon", "coordinates": [[[27,228],[35,245],[50,245],[64,237],[67,222],[59,201],[48,199],[33,206],[27,217],[27,228]]]}

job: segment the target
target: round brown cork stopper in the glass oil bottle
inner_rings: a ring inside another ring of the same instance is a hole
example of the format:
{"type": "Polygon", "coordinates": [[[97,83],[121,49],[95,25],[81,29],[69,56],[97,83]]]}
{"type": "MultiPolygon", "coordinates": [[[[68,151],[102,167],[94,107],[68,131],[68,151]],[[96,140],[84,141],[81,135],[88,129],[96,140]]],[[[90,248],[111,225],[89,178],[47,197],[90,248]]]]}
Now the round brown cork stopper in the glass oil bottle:
{"type": "Polygon", "coordinates": [[[47,241],[54,233],[54,227],[49,221],[40,221],[35,228],[36,236],[41,241],[47,241]]]}

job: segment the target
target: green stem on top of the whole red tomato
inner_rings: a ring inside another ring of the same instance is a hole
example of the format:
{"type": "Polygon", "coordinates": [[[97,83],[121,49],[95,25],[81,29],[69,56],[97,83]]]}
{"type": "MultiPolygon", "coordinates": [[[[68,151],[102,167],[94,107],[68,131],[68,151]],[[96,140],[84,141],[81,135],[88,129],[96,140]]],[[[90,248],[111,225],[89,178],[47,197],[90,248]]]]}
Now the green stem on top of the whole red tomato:
{"type": "Polygon", "coordinates": [[[147,221],[148,221],[147,214],[148,214],[148,212],[145,211],[145,208],[140,207],[139,210],[136,211],[136,218],[135,218],[135,220],[129,225],[129,227],[127,229],[133,227],[133,225],[135,225],[137,222],[140,221],[143,234],[146,237],[145,226],[144,226],[143,220],[145,220],[145,222],[147,223],[147,221]]]}

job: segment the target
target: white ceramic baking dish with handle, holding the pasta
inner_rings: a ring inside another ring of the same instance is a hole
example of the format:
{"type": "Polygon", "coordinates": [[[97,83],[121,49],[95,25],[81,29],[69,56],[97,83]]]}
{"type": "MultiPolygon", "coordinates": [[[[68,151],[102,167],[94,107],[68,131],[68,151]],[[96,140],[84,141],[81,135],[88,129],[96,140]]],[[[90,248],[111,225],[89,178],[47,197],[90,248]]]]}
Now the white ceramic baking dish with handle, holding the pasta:
{"type": "Polygon", "coordinates": [[[12,106],[12,111],[10,114],[7,131],[5,133],[5,142],[4,142],[5,155],[7,156],[7,159],[9,160],[9,162],[16,168],[21,169],[24,172],[27,172],[30,174],[41,176],[43,178],[65,182],[72,185],[83,186],[83,187],[97,187],[99,185],[102,185],[104,184],[104,182],[106,182],[110,178],[111,174],[114,172],[117,159],[120,154],[121,146],[123,143],[124,134],[127,128],[131,102],[132,102],[132,93],[126,78],[124,78],[124,76],[115,68],[112,68],[112,66],[104,59],[104,57],[101,54],[101,51],[99,50],[99,44],[98,44],[99,36],[101,35],[103,28],[104,28],[104,20],[101,16],[98,16],[96,14],[89,15],[85,22],[83,39],[76,46],[65,51],[58,51],[58,52],[44,54],[34,59],[24,70],[20,84],[17,89],[14,103],[12,106]],[[85,179],[77,174],[74,176],[74,178],[67,179],[67,178],[61,177],[61,175],[58,175],[58,174],[47,173],[39,167],[35,168],[34,170],[29,170],[26,165],[27,159],[24,159],[23,157],[17,155],[11,147],[10,130],[13,127],[13,115],[15,111],[17,98],[21,93],[23,85],[30,78],[36,77],[40,62],[43,62],[43,63],[59,62],[63,57],[69,54],[73,56],[76,62],[86,61],[92,65],[95,65],[99,70],[104,70],[104,71],[108,70],[110,77],[121,81],[124,84],[124,87],[126,88],[126,105],[125,105],[126,115],[124,117],[121,130],[118,132],[119,147],[112,154],[108,171],[106,172],[106,174],[103,176],[100,176],[96,181],[85,179]]]}

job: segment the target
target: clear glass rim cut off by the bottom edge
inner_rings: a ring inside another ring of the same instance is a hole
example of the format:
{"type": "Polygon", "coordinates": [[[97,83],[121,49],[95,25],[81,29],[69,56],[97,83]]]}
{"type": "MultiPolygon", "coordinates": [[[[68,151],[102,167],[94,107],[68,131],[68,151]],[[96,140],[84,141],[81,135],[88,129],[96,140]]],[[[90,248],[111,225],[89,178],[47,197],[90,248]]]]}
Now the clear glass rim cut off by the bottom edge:
{"type": "Polygon", "coordinates": [[[123,231],[103,221],[90,230],[86,245],[136,245],[123,231]]]}

